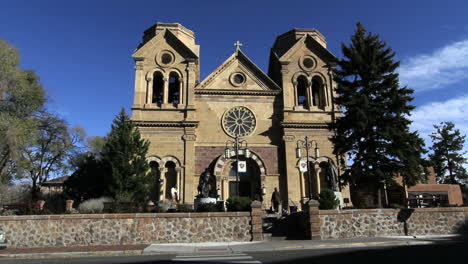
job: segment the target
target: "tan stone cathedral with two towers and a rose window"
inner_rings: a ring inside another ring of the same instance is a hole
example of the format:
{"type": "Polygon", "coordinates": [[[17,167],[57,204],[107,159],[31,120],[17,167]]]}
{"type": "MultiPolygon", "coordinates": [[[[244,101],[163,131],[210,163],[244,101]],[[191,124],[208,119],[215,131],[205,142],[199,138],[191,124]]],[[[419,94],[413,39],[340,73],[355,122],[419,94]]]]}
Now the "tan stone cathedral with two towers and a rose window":
{"type": "Polygon", "coordinates": [[[285,207],[317,199],[324,188],[349,198],[330,141],[341,112],[333,103],[337,59],[325,37],[303,28],[279,35],[268,73],[235,45],[201,80],[194,32],[179,23],[144,32],[132,55],[132,120],[150,141],[159,186],[152,199],[171,199],[176,190],[180,203],[191,204],[200,177],[209,179],[210,197],[247,196],[265,208],[275,189],[285,207]]]}

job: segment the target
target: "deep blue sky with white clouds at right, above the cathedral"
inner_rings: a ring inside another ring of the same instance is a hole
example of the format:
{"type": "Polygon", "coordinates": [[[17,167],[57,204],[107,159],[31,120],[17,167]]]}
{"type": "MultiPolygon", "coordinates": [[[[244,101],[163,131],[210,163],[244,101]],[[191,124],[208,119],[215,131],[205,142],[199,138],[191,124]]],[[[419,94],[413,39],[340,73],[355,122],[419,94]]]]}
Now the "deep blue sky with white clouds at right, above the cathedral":
{"type": "Polygon", "coordinates": [[[41,77],[48,108],[89,136],[104,136],[133,102],[132,51],[155,22],[180,22],[201,46],[201,78],[233,51],[265,72],[275,37],[316,28],[341,57],[355,23],[380,34],[401,61],[400,78],[416,90],[413,129],[453,121],[468,134],[468,1],[22,1],[0,5],[0,38],[41,77]]]}

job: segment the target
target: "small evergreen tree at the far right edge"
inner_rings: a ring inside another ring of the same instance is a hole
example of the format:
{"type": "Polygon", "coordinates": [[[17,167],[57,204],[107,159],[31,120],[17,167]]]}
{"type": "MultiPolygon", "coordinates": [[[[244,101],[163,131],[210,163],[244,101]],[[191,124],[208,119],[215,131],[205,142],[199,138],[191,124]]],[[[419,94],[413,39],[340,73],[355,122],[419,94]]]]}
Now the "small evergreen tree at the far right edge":
{"type": "Polygon", "coordinates": [[[468,173],[464,167],[467,159],[463,151],[465,135],[455,128],[452,122],[442,122],[434,125],[436,132],[432,133],[432,154],[429,155],[437,182],[448,184],[466,184],[468,173]]]}

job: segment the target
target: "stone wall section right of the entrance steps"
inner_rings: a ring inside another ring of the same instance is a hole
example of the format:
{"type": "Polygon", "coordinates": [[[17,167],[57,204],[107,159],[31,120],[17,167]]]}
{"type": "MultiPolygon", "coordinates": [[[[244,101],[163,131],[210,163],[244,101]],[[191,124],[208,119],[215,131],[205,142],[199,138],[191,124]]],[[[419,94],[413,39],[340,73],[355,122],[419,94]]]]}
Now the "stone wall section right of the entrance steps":
{"type": "Polygon", "coordinates": [[[321,239],[454,234],[461,225],[468,224],[467,207],[316,212],[320,218],[321,239]]]}

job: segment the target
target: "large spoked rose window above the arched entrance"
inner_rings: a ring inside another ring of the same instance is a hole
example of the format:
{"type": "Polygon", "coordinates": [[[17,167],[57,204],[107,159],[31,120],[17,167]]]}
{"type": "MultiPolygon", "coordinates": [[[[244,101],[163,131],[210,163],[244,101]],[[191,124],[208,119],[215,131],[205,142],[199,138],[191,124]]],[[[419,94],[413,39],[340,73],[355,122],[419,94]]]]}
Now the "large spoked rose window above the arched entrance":
{"type": "Polygon", "coordinates": [[[251,135],[256,127],[256,118],[250,109],[236,106],[229,109],[223,116],[224,131],[231,137],[246,137],[251,135]]]}

